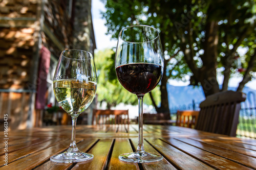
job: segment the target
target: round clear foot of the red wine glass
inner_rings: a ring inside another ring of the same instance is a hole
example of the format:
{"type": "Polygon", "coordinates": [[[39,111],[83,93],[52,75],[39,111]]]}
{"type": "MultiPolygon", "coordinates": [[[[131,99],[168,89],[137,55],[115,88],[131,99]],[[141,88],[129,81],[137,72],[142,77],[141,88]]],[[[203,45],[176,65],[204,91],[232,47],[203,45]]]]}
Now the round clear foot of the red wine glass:
{"type": "Polygon", "coordinates": [[[147,153],[147,152],[143,152],[143,153],[133,152],[133,153],[126,153],[126,154],[119,155],[118,158],[125,162],[145,163],[145,162],[160,161],[163,159],[163,156],[159,154],[153,154],[153,153],[147,153]]]}

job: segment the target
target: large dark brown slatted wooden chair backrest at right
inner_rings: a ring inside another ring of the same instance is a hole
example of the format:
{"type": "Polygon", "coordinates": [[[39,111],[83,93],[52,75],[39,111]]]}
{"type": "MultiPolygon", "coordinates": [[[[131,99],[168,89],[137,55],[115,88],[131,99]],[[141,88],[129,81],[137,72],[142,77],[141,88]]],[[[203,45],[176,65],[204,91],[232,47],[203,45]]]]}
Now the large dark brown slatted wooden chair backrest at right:
{"type": "Polygon", "coordinates": [[[223,91],[207,96],[200,104],[197,130],[236,136],[243,92],[223,91]]]}

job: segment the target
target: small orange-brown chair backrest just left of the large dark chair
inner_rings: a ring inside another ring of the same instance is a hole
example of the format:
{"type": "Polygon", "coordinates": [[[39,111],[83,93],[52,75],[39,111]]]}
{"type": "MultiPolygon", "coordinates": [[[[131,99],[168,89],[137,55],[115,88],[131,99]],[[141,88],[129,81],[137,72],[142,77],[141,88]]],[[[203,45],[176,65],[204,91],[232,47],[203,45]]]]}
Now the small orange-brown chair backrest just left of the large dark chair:
{"type": "Polygon", "coordinates": [[[182,126],[187,128],[195,128],[197,123],[199,111],[195,110],[183,110],[177,111],[176,126],[182,126]]]}

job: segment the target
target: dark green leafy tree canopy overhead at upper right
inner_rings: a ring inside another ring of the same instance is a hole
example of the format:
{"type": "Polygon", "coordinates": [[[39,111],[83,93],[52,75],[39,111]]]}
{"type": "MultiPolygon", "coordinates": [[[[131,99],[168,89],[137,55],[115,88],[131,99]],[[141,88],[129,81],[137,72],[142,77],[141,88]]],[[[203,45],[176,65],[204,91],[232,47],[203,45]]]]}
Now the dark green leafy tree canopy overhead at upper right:
{"type": "MultiPolygon", "coordinates": [[[[160,31],[165,59],[168,62],[166,65],[168,78],[185,80],[186,75],[193,76],[191,65],[201,68],[204,62],[209,60],[204,52],[207,41],[205,30],[210,21],[217,21],[219,26],[218,58],[212,61],[216,67],[224,69],[231,61],[231,73],[243,74],[240,68],[246,68],[250,57],[255,53],[254,0],[103,2],[107,11],[102,15],[106,19],[108,34],[113,38],[118,37],[121,29],[137,24],[153,26],[160,31]],[[239,56],[237,53],[238,46],[247,49],[244,56],[239,56]],[[186,51],[192,56],[189,63],[184,59],[186,51]],[[233,54],[237,57],[233,58],[233,54]],[[173,56],[175,56],[173,59],[168,60],[173,56]]],[[[253,71],[256,71],[255,69],[256,66],[253,71]]]]}

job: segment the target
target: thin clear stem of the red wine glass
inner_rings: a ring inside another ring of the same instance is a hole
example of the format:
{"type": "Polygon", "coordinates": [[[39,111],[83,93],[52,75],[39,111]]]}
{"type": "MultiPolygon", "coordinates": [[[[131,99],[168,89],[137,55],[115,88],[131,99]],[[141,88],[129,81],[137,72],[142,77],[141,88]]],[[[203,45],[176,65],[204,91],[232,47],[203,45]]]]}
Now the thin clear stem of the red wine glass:
{"type": "Polygon", "coordinates": [[[138,153],[144,153],[144,144],[143,144],[143,97],[144,95],[138,96],[139,102],[139,142],[137,151],[138,153]]]}

